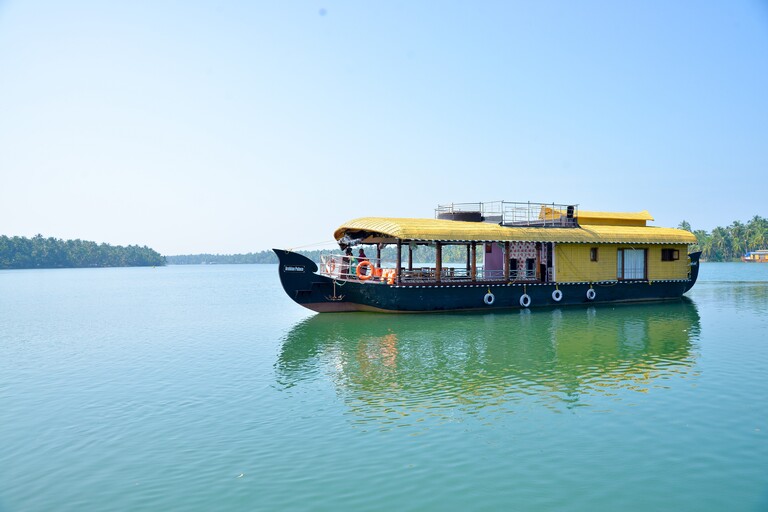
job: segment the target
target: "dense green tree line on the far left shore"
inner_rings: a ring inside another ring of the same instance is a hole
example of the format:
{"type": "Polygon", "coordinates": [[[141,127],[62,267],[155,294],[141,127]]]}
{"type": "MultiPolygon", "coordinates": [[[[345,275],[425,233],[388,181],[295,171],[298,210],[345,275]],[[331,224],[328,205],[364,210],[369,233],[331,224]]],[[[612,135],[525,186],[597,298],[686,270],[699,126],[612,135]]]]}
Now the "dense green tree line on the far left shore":
{"type": "Polygon", "coordinates": [[[165,263],[163,256],[146,246],[0,235],[0,269],[152,267],[165,263]]]}

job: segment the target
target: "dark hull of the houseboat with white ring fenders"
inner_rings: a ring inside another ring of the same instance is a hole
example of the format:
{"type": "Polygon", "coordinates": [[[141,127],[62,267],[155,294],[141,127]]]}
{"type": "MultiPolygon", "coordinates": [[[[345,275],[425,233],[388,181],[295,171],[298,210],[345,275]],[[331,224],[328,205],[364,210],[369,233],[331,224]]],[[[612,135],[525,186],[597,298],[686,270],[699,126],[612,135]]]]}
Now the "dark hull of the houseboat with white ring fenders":
{"type": "Polygon", "coordinates": [[[473,283],[387,285],[336,281],[318,275],[310,259],[275,249],[280,280],[291,299],[317,312],[429,312],[520,309],[679,299],[696,282],[699,253],[690,255],[688,279],[596,283],[473,283]],[[556,300],[559,298],[559,300],[556,300]]]}

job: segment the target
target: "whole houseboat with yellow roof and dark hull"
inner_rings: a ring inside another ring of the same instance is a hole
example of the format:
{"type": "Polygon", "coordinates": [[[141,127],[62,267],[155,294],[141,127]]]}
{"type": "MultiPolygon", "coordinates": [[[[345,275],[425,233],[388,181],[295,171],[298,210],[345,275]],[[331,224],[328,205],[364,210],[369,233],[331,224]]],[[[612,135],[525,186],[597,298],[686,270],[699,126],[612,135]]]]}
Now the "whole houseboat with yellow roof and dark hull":
{"type": "Polygon", "coordinates": [[[438,206],[434,218],[346,222],[334,233],[342,253],[319,264],[274,251],[288,296],[321,313],[679,299],[698,276],[701,253],[688,254],[696,237],[648,226],[652,220],[647,211],[582,211],[555,203],[449,204],[438,206]],[[414,254],[425,250],[432,261],[417,263],[414,254]]]}

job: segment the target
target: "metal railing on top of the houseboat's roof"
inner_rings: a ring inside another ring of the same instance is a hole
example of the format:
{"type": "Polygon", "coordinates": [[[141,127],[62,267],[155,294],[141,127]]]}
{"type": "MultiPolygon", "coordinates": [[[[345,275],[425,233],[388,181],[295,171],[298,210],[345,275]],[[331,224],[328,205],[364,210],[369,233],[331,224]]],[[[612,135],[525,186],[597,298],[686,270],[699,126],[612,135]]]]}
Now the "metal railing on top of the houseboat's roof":
{"type": "Polygon", "coordinates": [[[441,204],[435,218],[490,222],[502,226],[576,227],[578,205],[490,201],[441,204]]]}

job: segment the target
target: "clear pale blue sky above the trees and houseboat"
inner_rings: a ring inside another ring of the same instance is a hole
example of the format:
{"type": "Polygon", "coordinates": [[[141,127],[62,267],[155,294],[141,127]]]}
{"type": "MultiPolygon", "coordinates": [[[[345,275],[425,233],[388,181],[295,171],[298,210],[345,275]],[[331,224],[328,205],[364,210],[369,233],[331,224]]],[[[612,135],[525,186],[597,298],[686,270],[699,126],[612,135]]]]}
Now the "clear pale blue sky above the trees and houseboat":
{"type": "Polygon", "coordinates": [[[543,201],[768,216],[766,1],[0,0],[0,234],[234,253],[543,201]]]}

